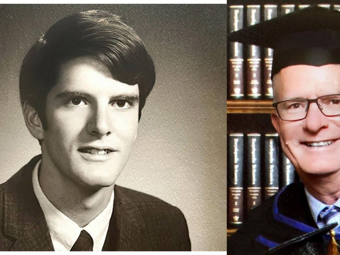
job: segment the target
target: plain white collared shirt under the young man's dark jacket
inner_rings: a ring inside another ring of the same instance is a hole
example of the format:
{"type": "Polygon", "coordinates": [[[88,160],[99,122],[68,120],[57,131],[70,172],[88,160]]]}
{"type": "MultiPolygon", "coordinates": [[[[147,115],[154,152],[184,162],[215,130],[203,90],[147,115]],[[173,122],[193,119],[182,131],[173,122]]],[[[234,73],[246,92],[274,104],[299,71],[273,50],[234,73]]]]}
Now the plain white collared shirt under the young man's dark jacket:
{"type": "Polygon", "coordinates": [[[73,220],[58,210],[41,190],[38,170],[41,159],[33,169],[32,181],[35,196],[43,209],[55,251],[70,251],[80,232],[84,229],[93,239],[93,251],[101,251],[105,242],[109,221],[113,211],[114,191],[105,209],[85,227],[81,228],[73,220]]]}

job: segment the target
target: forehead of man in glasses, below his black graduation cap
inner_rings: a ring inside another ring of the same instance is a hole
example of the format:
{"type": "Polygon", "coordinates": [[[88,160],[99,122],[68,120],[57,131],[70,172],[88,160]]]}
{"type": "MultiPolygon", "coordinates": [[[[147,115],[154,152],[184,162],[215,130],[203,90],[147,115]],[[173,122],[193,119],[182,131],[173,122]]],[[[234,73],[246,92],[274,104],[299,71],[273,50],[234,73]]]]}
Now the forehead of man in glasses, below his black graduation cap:
{"type": "Polygon", "coordinates": [[[294,65],[273,78],[274,102],[340,94],[340,65],[294,65]]]}

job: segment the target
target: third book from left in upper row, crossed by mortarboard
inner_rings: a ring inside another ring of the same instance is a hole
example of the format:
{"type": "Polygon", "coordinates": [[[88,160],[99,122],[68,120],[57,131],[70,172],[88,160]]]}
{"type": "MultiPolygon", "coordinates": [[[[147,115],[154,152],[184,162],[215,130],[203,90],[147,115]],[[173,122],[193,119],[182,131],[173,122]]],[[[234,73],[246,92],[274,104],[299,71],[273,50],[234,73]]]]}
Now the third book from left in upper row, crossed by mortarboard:
{"type": "MultiPolygon", "coordinates": [[[[265,5],[265,21],[277,17],[277,5],[266,4],[265,5]]],[[[273,98],[273,86],[272,86],[272,64],[273,64],[273,49],[265,48],[265,61],[264,61],[263,77],[265,84],[265,97],[273,98]]]]}

